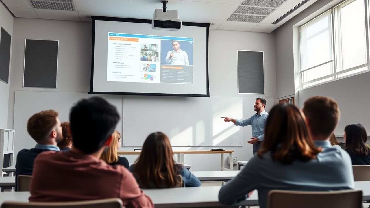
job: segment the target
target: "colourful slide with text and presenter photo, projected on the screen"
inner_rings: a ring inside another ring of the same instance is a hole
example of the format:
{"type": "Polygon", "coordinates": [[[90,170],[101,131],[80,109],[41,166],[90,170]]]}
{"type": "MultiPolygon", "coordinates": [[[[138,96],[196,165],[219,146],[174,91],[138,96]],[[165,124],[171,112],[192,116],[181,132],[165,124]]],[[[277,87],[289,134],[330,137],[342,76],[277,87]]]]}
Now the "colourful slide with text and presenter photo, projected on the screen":
{"type": "Polygon", "coordinates": [[[193,38],[109,32],[107,40],[107,81],[193,84],[193,38]]]}

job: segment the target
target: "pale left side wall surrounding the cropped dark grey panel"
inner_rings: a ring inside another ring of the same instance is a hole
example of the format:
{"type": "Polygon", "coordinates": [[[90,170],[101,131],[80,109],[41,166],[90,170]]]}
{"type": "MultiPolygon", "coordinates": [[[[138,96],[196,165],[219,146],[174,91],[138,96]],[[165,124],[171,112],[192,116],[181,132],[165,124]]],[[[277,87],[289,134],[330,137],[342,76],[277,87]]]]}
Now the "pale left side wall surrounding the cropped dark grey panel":
{"type": "MultiPolygon", "coordinates": [[[[0,27],[3,27],[7,33],[10,34],[11,42],[13,43],[13,15],[6,9],[6,7],[0,3],[0,27]]],[[[9,70],[11,68],[11,47],[10,44],[10,63],[9,70]]],[[[1,46],[0,46],[1,47],[1,46]]],[[[10,77],[10,73],[9,73],[10,77]]],[[[10,82],[10,79],[9,79],[10,82]]],[[[7,128],[8,121],[8,101],[9,101],[9,84],[0,81],[0,128],[7,128]]]]}

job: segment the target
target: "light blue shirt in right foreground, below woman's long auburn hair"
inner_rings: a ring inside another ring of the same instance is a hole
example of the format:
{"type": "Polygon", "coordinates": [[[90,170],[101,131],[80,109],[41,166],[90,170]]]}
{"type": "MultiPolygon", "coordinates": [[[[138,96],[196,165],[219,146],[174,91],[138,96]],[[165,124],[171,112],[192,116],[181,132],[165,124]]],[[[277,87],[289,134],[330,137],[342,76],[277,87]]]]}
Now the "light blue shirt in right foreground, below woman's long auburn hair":
{"type": "Polygon", "coordinates": [[[243,170],[220,189],[221,204],[244,200],[246,194],[257,189],[260,208],[267,207],[268,192],[272,189],[296,191],[332,191],[354,189],[352,163],[349,154],[330,145],[329,141],[315,141],[322,152],[307,162],[294,161],[284,165],[272,160],[271,152],[260,158],[255,155],[243,170]]]}

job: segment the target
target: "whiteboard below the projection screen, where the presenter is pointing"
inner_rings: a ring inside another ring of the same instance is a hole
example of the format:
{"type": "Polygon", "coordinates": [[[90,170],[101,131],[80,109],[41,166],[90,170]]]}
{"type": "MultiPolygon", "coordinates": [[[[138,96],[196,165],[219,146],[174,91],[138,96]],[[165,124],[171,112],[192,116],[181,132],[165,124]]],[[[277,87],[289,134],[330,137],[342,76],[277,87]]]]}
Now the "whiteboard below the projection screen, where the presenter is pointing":
{"type": "Polygon", "coordinates": [[[168,135],[173,147],[242,146],[245,127],[225,123],[221,116],[243,118],[243,98],[127,95],[123,146],[141,147],[157,131],[168,135]]]}

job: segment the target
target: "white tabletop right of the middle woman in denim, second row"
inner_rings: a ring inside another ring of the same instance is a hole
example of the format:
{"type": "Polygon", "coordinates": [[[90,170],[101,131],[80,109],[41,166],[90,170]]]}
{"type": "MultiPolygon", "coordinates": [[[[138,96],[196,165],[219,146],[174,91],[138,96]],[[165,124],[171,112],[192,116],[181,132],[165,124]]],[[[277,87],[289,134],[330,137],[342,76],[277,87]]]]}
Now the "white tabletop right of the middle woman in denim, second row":
{"type": "Polygon", "coordinates": [[[192,171],[200,181],[229,181],[240,171],[192,171]]]}

